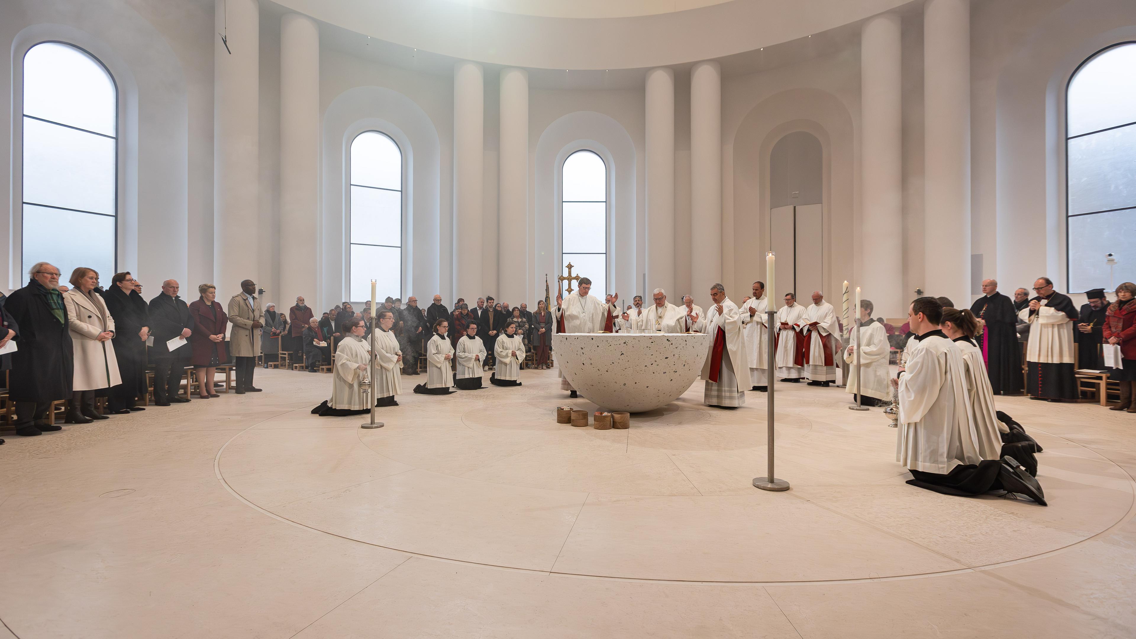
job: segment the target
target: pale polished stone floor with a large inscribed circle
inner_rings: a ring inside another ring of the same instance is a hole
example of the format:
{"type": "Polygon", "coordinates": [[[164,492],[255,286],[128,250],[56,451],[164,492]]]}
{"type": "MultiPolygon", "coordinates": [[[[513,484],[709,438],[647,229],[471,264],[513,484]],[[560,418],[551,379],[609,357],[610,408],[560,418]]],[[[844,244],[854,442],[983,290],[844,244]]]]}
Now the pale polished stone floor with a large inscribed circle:
{"type": "MultiPolygon", "coordinates": [[[[1050,506],[907,486],[880,409],[778,384],[629,430],[554,371],[315,417],[329,376],[0,431],[0,639],[1136,637],[1136,416],[1000,399],[1050,506]]],[[[406,380],[407,390],[421,377],[406,380]]]]}

